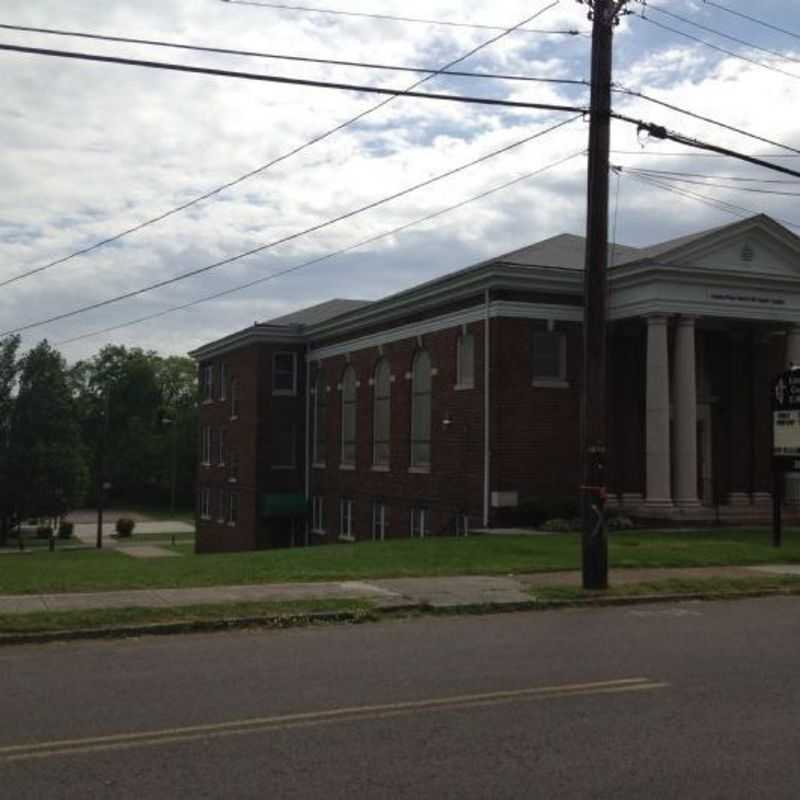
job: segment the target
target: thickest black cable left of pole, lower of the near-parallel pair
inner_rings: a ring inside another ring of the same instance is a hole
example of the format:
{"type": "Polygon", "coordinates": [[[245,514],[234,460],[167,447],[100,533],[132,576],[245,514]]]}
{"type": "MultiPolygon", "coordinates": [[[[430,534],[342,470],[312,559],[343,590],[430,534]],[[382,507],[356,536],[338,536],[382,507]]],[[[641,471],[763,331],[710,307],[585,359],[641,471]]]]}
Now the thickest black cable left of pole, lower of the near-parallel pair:
{"type": "MultiPolygon", "coordinates": [[[[434,92],[414,92],[407,89],[389,89],[382,86],[366,86],[357,83],[339,83],[337,81],[317,81],[310,78],[289,78],[282,75],[263,75],[256,72],[217,69],[215,67],[198,67],[190,64],[175,64],[171,61],[145,61],[138,58],[121,58],[119,56],[102,56],[97,53],[82,53],[71,50],[51,50],[44,47],[23,47],[15,44],[0,44],[0,50],[14,53],[67,58],[77,61],[97,61],[101,64],[118,64],[126,67],[143,67],[145,69],[162,69],[168,72],[189,72],[193,75],[212,75],[219,78],[236,78],[265,83],[280,83],[288,86],[308,86],[314,89],[334,89],[337,91],[363,92],[365,94],[382,94],[391,97],[411,97],[422,100],[444,100],[454,103],[470,103],[484,106],[501,106],[504,108],[534,108],[540,111],[579,111],[577,106],[566,106],[552,103],[527,103],[521,100],[500,100],[495,97],[475,97],[473,95],[440,94],[434,92]]],[[[440,72],[438,74],[444,74],[440,72]]]]}

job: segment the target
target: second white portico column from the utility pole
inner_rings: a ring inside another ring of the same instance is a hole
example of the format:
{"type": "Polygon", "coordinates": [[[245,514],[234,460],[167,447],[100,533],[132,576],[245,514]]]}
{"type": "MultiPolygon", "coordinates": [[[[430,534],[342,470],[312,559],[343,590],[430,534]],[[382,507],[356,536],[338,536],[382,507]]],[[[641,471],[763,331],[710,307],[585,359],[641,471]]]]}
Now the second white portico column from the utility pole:
{"type": "Polygon", "coordinates": [[[679,317],[675,329],[675,505],[701,507],[697,498],[697,378],[694,317],[679,317]]]}

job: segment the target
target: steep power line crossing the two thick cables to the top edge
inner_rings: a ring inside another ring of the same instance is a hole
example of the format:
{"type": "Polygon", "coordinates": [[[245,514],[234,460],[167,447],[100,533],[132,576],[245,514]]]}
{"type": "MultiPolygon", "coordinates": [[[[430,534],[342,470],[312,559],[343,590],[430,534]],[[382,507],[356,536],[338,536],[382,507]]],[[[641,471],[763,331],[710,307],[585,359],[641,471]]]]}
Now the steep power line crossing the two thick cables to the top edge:
{"type": "MultiPolygon", "coordinates": [[[[512,26],[511,28],[506,29],[503,33],[499,33],[496,36],[492,36],[490,39],[487,39],[486,41],[481,42],[480,44],[476,45],[475,47],[470,48],[466,53],[460,55],[458,58],[455,58],[452,61],[449,61],[447,64],[445,64],[444,66],[442,66],[440,69],[436,70],[435,72],[432,72],[430,75],[426,75],[425,77],[414,81],[412,84],[410,84],[406,88],[405,92],[409,92],[409,91],[411,91],[413,89],[416,89],[418,86],[422,86],[422,84],[427,83],[429,80],[433,80],[433,78],[437,77],[438,75],[440,75],[445,70],[448,70],[448,69],[456,66],[457,64],[460,64],[463,61],[466,61],[468,58],[471,58],[476,53],[479,53],[481,50],[484,50],[485,48],[491,46],[495,42],[500,41],[500,39],[502,39],[504,36],[507,36],[510,33],[513,33],[515,30],[521,28],[523,25],[526,25],[527,23],[533,21],[537,17],[542,16],[542,14],[545,14],[550,9],[555,8],[555,6],[557,4],[558,4],[558,0],[555,0],[555,2],[552,2],[552,3],[544,6],[543,8],[539,9],[535,14],[532,14],[531,16],[527,17],[526,19],[523,19],[521,22],[517,23],[516,25],[512,26]]],[[[404,93],[401,93],[400,95],[398,95],[398,97],[402,97],[403,94],[404,93]]],[[[171,217],[171,216],[173,216],[175,214],[179,214],[182,211],[186,211],[187,209],[192,208],[193,206],[197,205],[198,203],[202,203],[205,200],[208,200],[211,197],[214,197],[214,196],[220,194],[221,192],[226,191],[227,189],[231,189],[234,186],[238,186],[240,183],[243,183],[244,181],[246,181],[246,180],[248,180],[250,178],[253,178],[256,175],[260,175],[260,174],[266,172],[267,170],[271,169],[272,167],[275,167],[278,164],[281,164],[284,161],[289,160],[293,156],[296,156],[299,153],[302,153],[305,150],[308,150],[310,147],[313,147],[315,144],[319,144],[320,142],[325,141],[326,139],[330,138],[331,136],[336,135],[340,131],[343,131],[346,128],[349,128],[351,125],[354,125],[355,123],[360,122],[362,119],[365,119],[366,117],[370,116],[371,114],[375,113],[376,111],[379,111],[381,108],[383,108],[384,106],[389,105],[389,103],[391,103],[394,100],[395,100],[395,97],[387,97],[385,100],[381,100],[379,103],[376,103],[375,105],[372,105],[372,106],[369,106],[368,108],[365,108],[363,111],[359,112],[354,117],[350,117],[350,118],[346,119],[344,122],[341,122],[338,125],[334,125],[332,128],[328,128],[327,130],[323,131],[322,133],[315,134],[310,139],[307,139],[306,141],[302,142],[301,144],[297,145],[296,147],[293,147],[291,150],[287,150],[285,153],[282,153],[281,155],[276,156],[275,158],[271,159],[270,161],[267,161],[264,164],[261,164],[260,166],[256,167],[255,169],[251,169],[249,172],[245,172],[243,175],[240,175],[238,178],[234,178],[233,180],[230,180],[227,183],[223,183],[220,186],[215,187],[214,189],[210,189],[209,191],[205,192],[204,194],[198,195],[197,197],[194,197],[191,200],[187,200],[184,203],[181,203],[181,204],[179,204],[177,206],[174,206],[173,208],[170,208],[167,211],[162,212],[161,214],[157,214],[156,216],[151,217],[150,219],[146,219],[143,222],[140,222],[140,223],[138,223],[136,225],[132,225],[129,228],[125,228],[124,230],[122,230],[122,231],[120,231],[118,233],[115,233],[115,234],[113,234],[111,236],[108,236],[105,239],[101,239],[101,240],[99,240],[97,242],[94,242],[91,245],[87,245],[86,247],[80,248],[79,250],[75,250],[75,251],[73,251],[72,253],[69,253],[66,256],[62,256],[61,258],[57,258],[57,259],[55,259],[53,261],[50,261],[49,263],[44,264],[41,267],[36,267],[34,269],[28,270],[27,272],[25,272],[25,273],[23,273],[21,275],[18,275],[15,278],[15,280],[21,280],[23,278],[28,277],[29,275],[35,275],[35,274],[37,274],[39,272],[44,272],[45,270],[48,270],[48,269],[50,269],[52,267],[55,267],[55,266],[58,266],[59,264],[64,264],[65,262],[70,261],[73,258],[78,258],[80,256],[87,255],[88,253],[91,253],[91,252],[93,252],[94,250],[97,250],[100,247],[104,247],[107,244],[112,244],[113,242],[118,242],[120,239],[123,239],[124,237],[129,236],[129,235],[131,235],[133,233],[137,233],[138,231],[143,230],[144,228],[147,228],[150,225],[156,225],[159,222],[163,222],[165,219],[168,219],[169,217],[171,217]]],[[[3,285],[4,284],[0,283],[0,286],[3,286],[3,285]]]]}

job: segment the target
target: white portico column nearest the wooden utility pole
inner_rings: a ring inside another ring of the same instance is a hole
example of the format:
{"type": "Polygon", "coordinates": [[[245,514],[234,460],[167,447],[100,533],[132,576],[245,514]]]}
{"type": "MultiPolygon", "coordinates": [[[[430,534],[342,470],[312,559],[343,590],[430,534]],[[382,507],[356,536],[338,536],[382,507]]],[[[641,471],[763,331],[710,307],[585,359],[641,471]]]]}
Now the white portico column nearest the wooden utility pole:
{"type": "Polygon", "coordinates": [[[669,456],[669,354],[667,317],[647,318],[647,381],[645,415],[645,512],[671,511],[669,456]]]}

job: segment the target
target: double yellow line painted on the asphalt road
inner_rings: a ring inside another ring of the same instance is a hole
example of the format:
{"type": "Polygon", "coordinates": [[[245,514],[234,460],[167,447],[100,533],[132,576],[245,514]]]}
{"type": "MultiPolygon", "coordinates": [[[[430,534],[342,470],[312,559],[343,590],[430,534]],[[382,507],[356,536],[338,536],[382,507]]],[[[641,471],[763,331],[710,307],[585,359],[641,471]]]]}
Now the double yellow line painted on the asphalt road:
{"type": "Polygon", "coordinates": [[[282,714],[255,717],[182,728],[165,728],[140,733],[122,733],[82,739],[60,739],[23,745],[0,747],[0,763],[31,759],[77,755],[108,750],[126,750],[136,747],[191,742],[223,736],[246,735],[265,730],[289,730],[300,727],[352,722],[358,720],[389,719],[418,712],[458,710],[486,707],[515,701],[547,700],[586,695],[619,694],[622,692],[651,691],[668,686],[647,678],[624,678],[596,683],[564,684],[528,689],[514,689],[483,694],[455,695],[452,697],[415,700],[401,703],[353,706],[299,714],[282,714]]]}

